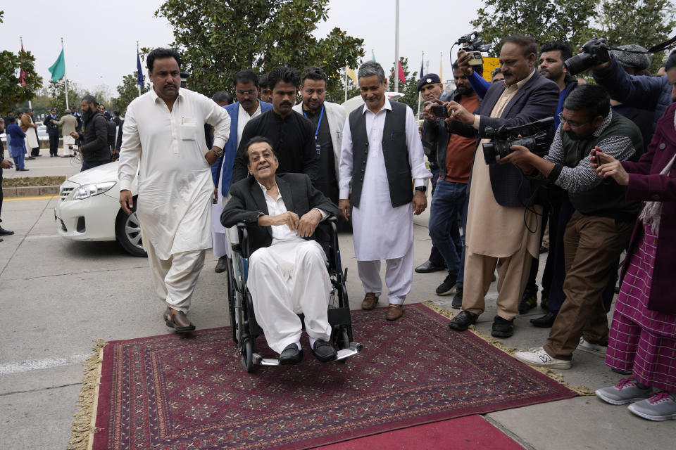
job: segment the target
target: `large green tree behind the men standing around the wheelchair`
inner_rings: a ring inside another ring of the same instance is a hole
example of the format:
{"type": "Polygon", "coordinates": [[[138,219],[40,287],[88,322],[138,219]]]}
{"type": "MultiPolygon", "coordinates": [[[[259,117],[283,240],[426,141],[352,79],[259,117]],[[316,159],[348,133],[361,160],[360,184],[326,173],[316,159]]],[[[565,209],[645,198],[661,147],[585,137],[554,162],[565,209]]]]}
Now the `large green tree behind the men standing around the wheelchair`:
{"type": "MultiPolygon", "coordinates": [[[[191,89],[211,96],[232,86],[239,70],[268,72],[287,64],[298,70],[318,65],[327,89],[340,84],[340,71],[363,57],[363,39],[334,28],[313,35],[328,14],[328,0],[166,0],[155,15],[173,27],[182,70],[191,89]]],[[[145,50],[145,49],[144,49],[145,50]]]]}

